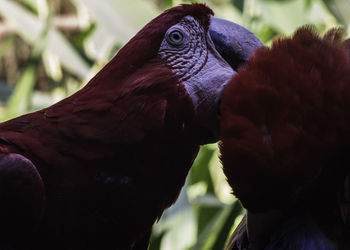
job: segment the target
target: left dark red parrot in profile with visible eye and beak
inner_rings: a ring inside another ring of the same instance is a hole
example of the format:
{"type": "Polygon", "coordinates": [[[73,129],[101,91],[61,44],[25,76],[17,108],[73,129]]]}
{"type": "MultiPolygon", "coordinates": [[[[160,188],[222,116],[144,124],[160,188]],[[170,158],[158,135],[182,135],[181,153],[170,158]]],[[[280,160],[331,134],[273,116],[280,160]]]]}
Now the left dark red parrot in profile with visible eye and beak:
{"type": "Polygon", "coordinates": [[[164,11],[78,92],[0,124],[0,249],[147,249],[199,146],[218,140],[226,84],[262,46],[213,15],[164,11]]]}

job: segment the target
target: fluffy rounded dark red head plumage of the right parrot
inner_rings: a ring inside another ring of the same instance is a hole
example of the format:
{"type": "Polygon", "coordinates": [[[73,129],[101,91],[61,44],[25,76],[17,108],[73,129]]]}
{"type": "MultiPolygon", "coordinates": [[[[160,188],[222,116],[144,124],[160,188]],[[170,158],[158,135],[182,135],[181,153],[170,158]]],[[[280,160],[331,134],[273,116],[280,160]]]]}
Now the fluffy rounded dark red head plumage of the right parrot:
{"type": "Polygon", "coordinates": [[[317,204],[336,198],[337,181],[350,171],[337,163],[350,146],[350,55],[342,37],[341,30],[321,38],[301,28],[258,49],[225,90],[222,161],[249,210],[286,209],[306,194],[317,204]],[[320,190],[311,192],[315,183],[320,190]]]}

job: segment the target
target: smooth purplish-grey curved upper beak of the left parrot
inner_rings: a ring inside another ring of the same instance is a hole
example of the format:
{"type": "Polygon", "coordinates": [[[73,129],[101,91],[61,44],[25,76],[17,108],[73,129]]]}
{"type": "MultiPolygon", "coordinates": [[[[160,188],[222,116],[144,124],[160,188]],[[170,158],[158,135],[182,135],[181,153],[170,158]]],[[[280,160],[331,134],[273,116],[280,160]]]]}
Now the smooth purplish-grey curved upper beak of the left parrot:
{"type": "Polygon", "coordinates": [[[209,34],[216,50],[235,71],[256,48],[264,45],[246,28],[220,18],[211,17],[209,34]]]}

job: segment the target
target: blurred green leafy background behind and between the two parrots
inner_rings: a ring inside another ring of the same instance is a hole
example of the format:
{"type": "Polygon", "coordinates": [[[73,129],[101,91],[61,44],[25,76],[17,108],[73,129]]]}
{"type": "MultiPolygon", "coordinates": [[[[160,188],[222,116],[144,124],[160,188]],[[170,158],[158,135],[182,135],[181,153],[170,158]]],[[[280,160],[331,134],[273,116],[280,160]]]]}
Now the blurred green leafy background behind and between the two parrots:
{"type": "MultiPolygon", "coordinates": [[[[185,2],[195,1],[0,0],[0,121],[74,93],[148,21],[185,2]]],[[[199,2],[266,44],[303,24],[320,32],[339,25],[349,30],[349,0],[199,2]]],[[[243,213],[217,145],[204,146],[178,201],[154,225],[150,249],[223,249],[243,213]]]]}

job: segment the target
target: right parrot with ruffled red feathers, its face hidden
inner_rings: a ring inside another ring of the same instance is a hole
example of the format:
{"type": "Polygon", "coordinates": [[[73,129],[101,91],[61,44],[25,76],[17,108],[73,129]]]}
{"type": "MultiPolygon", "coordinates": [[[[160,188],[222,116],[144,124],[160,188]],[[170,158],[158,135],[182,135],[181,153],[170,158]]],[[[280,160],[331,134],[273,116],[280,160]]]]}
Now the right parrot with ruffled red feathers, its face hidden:
{"type": "Polygon", "coordinates": [[[257,48],[221,103],[224,173],[246,208],[226,249],[350,249],[350,40],[303,26],[257,48]]]}

